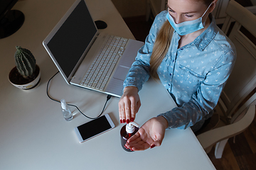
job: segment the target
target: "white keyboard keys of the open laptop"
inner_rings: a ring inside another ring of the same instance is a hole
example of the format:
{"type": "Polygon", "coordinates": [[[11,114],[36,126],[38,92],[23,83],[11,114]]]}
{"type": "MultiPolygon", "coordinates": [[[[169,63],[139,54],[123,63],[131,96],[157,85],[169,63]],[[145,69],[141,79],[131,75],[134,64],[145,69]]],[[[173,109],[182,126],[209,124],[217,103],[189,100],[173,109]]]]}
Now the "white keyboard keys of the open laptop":
{"type": "Polygon", "coordinates": [[[127,41],[127,38],[109,35],[80,85],[103,91],[127,41]]]}

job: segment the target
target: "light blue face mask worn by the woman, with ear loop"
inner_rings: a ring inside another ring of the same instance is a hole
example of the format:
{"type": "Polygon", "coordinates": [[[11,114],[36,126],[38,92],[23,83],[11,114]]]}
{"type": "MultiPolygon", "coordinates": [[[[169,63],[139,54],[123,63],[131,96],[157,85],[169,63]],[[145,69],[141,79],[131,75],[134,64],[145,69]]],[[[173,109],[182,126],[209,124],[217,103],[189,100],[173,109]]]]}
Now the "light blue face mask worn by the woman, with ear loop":
{"type": "MultiPolygon", "coordinates": [[[[212,3],[210,3],[210,5],[211,4],[212,3]]],[[[208,6],[208,8],[210,8],[210,5],[208,6]]],[[[206,11],[208,11],[208,8],[206,9],[206,11]]],[[[206,14],[206,11],[205,13],[203,13],[203,16],[206,14]]],[[[170,15],[169,12],[167,13],[166,18],[179,35],[186,35],[189,33],[193,33],[196,30],[201,30],[202,28],[204,28],[204,26],[206,25],[206,21],[202,21],[203,16],[197,18],[196,20],[184,21],[178,24],[174,22],[174,18],[170,15]]]]}

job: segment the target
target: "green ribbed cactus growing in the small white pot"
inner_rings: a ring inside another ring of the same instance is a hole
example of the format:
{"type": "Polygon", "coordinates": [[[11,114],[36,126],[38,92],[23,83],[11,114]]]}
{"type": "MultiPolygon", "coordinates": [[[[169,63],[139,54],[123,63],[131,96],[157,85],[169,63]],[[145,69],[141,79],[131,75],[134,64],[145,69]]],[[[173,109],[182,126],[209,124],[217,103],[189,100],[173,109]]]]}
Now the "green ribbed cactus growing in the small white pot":
{"type": "Polygon", "coordinates": [[[15,64],[18,72],[26,79],[36,70],[36,59],[32,53],[22,47],[16,46],[15,64]]]}

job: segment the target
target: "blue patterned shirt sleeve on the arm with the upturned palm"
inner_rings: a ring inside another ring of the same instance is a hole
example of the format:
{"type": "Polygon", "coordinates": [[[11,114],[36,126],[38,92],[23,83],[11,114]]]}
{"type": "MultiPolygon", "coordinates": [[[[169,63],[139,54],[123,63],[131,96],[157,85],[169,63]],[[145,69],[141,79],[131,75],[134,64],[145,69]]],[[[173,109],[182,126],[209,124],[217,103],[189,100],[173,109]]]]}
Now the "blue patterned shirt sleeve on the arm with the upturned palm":
{"type": "MultiPolygon", "coordinates": [[[[169,123],[169,128],[186,129],[193,125],[201,128],[204,120],[209,118],[210,112],[218,103],[221,91],[223,90],[228,77],[235,64],[236,53],[226,52],[215,65],[214,69],[208,72],[206,79],[198,87],[190,101],[183,103],[171,111],[162,113],[169,123]]],[[[197,129],[195,127],[195,129],[197,129]]]]}

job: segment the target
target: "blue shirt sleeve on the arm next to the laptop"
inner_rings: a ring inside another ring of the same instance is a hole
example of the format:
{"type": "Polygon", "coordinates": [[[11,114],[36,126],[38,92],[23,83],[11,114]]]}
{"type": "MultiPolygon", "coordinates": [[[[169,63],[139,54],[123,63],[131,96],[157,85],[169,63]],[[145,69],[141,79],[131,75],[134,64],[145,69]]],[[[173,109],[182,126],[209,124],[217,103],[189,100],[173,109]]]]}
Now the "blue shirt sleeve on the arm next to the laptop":
{"type": "Polygon", "coordinates": [[[142,89],[142,85],[149,79],[149,62],[151,53],[153,50],[154,42],[156,40],[156,34],[161,28],[164,21],[161,19],[163,16],[160,13],[156,16],[154,23],[151,26],[149,35],[146,37],[145,45],[138,51],[135,62],[129,69],[126,79],[124,80],[124,87],[136,86],[139,90],[142,89]]]}

